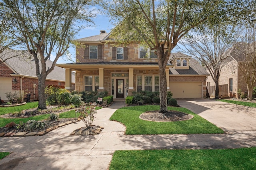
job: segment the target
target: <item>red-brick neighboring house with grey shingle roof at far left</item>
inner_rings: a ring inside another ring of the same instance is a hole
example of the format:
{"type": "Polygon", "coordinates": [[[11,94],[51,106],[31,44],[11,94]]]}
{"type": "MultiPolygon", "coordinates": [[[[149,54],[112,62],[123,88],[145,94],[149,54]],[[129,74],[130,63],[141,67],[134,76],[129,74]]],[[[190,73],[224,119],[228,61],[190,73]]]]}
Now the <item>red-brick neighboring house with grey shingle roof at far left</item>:
{"type": "MultiPolygon", "coordinates": [[[[26,94],[30,94],[30,100],[38,100],[38,78],[36,76],[35,62],[31,61],[27,51],[14,51],[12,49],[5,50],[1,53],[0,60],[8,57],[10,59],[0,62],[0,96],[4,101],[6,92],[18,92],[18,96],[27,98],[26,94]],[[14,56],[14,57],[13,57],[14,56]],[[12,58],[11,58],[12,57],[12,58]],[[21,92],[21,93],[20,93],[21,92]]],[[[46,67],[51,66],[52,61],[46,61],[46,67]]],[[[72,86],[74,88],[74,74],[72,76],[72,86]]],[[[48,74],[45,86],[54,85],[60,88],[65,87],[65,70],[58,66],[48,74]]]]}

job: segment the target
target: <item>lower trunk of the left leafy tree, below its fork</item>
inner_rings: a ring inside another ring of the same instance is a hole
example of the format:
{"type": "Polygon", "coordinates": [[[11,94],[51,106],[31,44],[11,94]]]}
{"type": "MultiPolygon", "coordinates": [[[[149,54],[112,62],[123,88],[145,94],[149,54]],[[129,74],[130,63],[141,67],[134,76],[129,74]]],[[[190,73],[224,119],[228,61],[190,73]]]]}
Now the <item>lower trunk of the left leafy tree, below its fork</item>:
{"type": "Polygon", "coordinates": [[[46,98],[44,93],[46,76],[40,75],[38,78],[38,109],[46,109],[46,98]]]}

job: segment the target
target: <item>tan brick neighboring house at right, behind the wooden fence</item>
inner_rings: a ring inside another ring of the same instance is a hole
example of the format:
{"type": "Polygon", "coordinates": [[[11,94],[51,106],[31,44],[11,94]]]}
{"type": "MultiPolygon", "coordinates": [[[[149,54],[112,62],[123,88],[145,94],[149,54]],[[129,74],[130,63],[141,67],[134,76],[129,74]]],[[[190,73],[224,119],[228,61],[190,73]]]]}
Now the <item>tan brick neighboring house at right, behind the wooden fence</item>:
{"type": "MultiPolygon", "coordinates": [[[[225,63],[220,72],[219,85],[221,86],[227,84],[228,97],[238,98],[239,96],[237,91],[239,89],[241,89],[241,91],[245,94],[248,94],[247,85],[244,81],[243,73],[241,71],[244,55],[241,51],[234,51],[229,55],[229,57],[230,58],[228,59],[228,62],[225,63]]],[[[208,76],[206,84],[207,86],[215,85],[211,76],[208,76]]],[[[256,86],[256,84],[254,86],[256,86]]]]}

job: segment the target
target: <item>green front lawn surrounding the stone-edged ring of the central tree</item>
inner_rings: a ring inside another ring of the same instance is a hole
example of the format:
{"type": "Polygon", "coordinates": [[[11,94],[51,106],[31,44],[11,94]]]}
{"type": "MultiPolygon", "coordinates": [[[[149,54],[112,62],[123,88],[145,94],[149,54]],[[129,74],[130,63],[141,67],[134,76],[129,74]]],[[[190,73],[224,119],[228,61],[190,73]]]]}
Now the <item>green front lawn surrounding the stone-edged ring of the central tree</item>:
{"type": "Polygon", "coordinates": [[[139,118],[140,114],[145,111],[159,110],[159,108],[156,105],[122,107],[115,111],[110,120],[123,123],[126,126],[127,135],[224,133],[222,129],[183,107],[168,107],[168,110],[194,115],[193,119],[175,122],[153,122],[139,118]]]}

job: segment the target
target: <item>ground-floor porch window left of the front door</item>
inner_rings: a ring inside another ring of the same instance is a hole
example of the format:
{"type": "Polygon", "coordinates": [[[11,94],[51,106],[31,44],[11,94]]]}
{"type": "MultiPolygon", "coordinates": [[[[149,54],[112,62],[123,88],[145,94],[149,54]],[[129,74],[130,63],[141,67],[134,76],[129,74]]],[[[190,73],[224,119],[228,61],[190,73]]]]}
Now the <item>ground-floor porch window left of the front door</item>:
{"type": "Polygon", "coordinates": [[[84,76],[84,91],[97,91],[99,89],[99,76],[84,76]]]}

